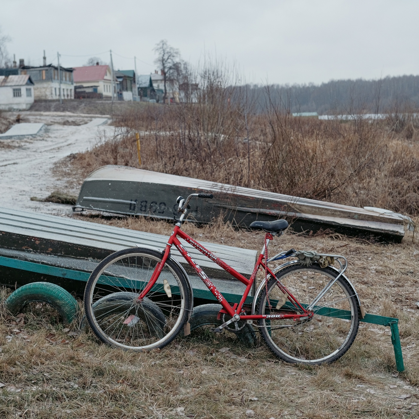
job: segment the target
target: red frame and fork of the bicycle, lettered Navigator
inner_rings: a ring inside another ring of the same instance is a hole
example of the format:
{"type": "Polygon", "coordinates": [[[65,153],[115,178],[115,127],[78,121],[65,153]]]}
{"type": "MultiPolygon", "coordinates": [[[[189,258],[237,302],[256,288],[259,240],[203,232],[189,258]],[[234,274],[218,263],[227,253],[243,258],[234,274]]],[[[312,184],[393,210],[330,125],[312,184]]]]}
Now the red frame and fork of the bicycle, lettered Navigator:
{"type": "MultiPolygon", "coordinates": [[[[181,230],[180,223],[177,223],[175,225],[175,228],[173,229],[172,234],[169,237],[169,240],[166,244],[166,248],[163,253],[163,258],[161,262],[159,262],[153,272],[153,275],[150,278],[150,281],[145,286],[144,290],[139,295],[139,300],[144,298],[147,293],[151,290],[155,282],[157,281],[164,264],[166,263],[170,250],[172,245],[175,245],[178,251],[181,253],[181,255],[186,259],[188,264],[194,269],[194,271],[198,274],[198,276],[202,279],[202,282],[207,286],[207,288],[212,292],[212,294],[215,296],[215,298],[220,302],[222,305],[222,308],[225,310],[226,313],[228,313],[232,318],[235,315],[239,315],[241,319],[245,320],[258,320],[258,319],[270,319],[270,318],[290,318],[294,321],[298,321],[302,318],[309,318],[313,316],[313,312],[310,310],[306,310],[298,301],[297,299],[291,294],[290,291],[287,290],[287,288],[282,285],[281,282],[277,280],[279,289],[287,295],[288,300],[292,303],[292,305],[295,306],[295,308],[298,311],[302,311],[301,314],[285,314],[285,313],[279,313],[279,314],[253,314],[253,315],[246,315],[246,314],[240,314],[242,312],[243,304],[246,301],[246,298],[249,295],[249,292],[252,288],[253,282],[256,280],[256,274],[259,270],[259,268],[266,269],[266,271],[271,275],[271,277],[276,279],[275,274],[272,272],[272,270],[269,268],[269,266],[266,266],[266,263],[263,262],[264,259],[264,253],[265,253],[265,246],[263,246],[261,252],[259,253],[258,259],[256,260],[256,264],[253,268],[253,272],[251,274],[250,279],[247,279],[242,274],[237,272],[235,269],[233,269],[231,266],[226,264],[224,261],[219,259],[217,256],[215,256],[213,253],[211,253],[209,250],[204,248],[204,246],[200,245],[197,241],[195,241],[193,238],[191,238],[189,235],[184,233],[184,231],[181,230]],[[205,272],[202,270],[202,268],[197,264],[196,261],[191,257],[191,255],[186,251],[184,246],[182,246],[181,242],[179,241],[178,237],[185,240],[187,243],[191,244],[194,248],[196,248],[199,252],[207,256],[208,259],[215,262],[218,266],[220,266],[222,269],[224,269],[226,272],[231,274],[235,279],[238,279],[240,282],[242,282],[244,285],[246,285],[246,290],[243,293],[243,297],[241,298],[240,302],[238,304],[234,304],[233,307],[228,303],[228,301],[223,297],[222,293],[217,290],[217,287],[212,283],[212,281],[207,277],[205,272]]],[[[265,234],[265,243],[266,246],[268,245],[269,241],[273,239],[273,236],[271,233],[265,234]]]]}

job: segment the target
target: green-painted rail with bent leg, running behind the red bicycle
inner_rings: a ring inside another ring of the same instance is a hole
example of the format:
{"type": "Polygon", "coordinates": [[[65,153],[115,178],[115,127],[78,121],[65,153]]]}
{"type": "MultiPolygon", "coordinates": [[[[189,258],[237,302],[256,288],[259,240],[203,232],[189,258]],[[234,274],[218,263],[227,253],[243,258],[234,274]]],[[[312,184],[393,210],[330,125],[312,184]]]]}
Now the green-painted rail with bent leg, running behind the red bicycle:
{"type": "MultiPolygon", "coordinates": [[[[90,276],[90,272],[80,271],[76,269],[67,269],[31,261],[24,261],[5,256],[0,256],[0,266],[3,266],[3,269],[13,270],[14,274],[16,274],[17,277],[27,277],[27,274],[25,274],[24,272],[32,272],[33,274],[36,274],[36,280],[40,279],[47,281],[51,280],[51,278],[55,278],[55,283],[59,283],[59,285],[62,285],[64,288],[67,289],[67,291],[73,292],[74,287],[71,286],[72,282],[87,282],[90,276]],[[39,277],[40,275],[41,277],[39,277]],[[70,290],[68,289],[69,287],[71,288],[70,290]]],[[[33,280],[29,282],[33,282],[33,280]]],[[[16,281],[16,286],[17,284],[18,281],[16,281]]],[[[10,284],[4,285],[10,286],[10,284]]],[[[19,285],[23,285],[23,283],[19,281],[19,285]]],[[[78,287],[80,287],[81,285],[84,288],[84,285],[80,283],[76,283],[76,287],[77,285],[78,287]]],[[[242,297],[241,294],[234,294],[231,292],[223,292],[223,294],[231,303],[238,303],[242,297]]],[[[194,298],[198,300],[215,300],[215,297],[214,295],[212,295],[212,292],[205,288],[194,288],[194,298]]],[[[251,304],[252,302],[253,297],[247,297],[246,304],[251,304]]],[[[339,310],[340,317],[342,315],[341,311],[342,310],[339,310]]],[[[329,316],[332,316],[333,309],[330,309],[330,312],[331,313],[329,313],[329,316]]],[[[349,314],[350,313],[348,312],[348,315],[349,314]]],[[[398,318],[377,316],[375,314],[365,314],[365,316],[361,318],[360,321],[363,323],[372,323],[390,327],[391,343],[393,344],[394,357],[396,359],[396,368],[400,372],[404,371],[403,354],[401,352],[400,335],[398,331],[398,318]]]]}

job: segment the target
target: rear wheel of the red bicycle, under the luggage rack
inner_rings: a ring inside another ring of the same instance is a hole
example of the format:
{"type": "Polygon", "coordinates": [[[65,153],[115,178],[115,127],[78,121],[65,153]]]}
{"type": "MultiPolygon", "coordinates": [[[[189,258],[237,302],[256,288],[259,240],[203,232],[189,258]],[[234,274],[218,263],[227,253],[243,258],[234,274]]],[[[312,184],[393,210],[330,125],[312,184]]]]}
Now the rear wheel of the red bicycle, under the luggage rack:
{"type": "MultiPolygon", "coordinates": [[[[280,271],[277,279],[307,308],[338,273],[331,268],[293,265],[280,271]]],[[[258,314],[302,314],[278,287],[268,282],[261,293],[258,314]]],[[[277,357],[291,363],[320,365],[339,359],[351,347],[359,326],[359,304],[353,288],[340,277],[313,308],[314,316],[303,320],[262,319],[261,334],[277,357]]]]}

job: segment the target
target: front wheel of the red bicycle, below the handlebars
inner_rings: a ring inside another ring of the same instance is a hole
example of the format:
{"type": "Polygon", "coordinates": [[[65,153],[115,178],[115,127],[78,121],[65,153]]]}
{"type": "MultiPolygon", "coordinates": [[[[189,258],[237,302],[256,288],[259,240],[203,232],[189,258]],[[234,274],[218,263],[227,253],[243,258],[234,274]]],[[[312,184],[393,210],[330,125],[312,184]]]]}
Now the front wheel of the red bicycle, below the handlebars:
{"type": "Polygon", "coordinates": [[[162,348],[184,325],[189,310],[187,278],[171,260],[140,301],[138,297],[161,261],[146,248],[117,251],[103,259],[85,288],[86,318],[101,341],[135,351],[162,348]]]}

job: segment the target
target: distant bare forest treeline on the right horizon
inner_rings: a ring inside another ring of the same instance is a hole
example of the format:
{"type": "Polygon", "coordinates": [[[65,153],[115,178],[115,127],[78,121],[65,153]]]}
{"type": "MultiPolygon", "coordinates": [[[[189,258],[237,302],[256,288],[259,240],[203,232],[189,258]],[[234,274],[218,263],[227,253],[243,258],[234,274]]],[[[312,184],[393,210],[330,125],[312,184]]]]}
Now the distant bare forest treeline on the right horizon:
{"type": "Polygon", "coordinates": [[[331,80],[321,85],[254,85],[249,93],[263,107],[268,91],[270,100],[282,103],[291,112],[324,115],[419,109],[419,76],[414,75],[380,80],[331,80]]]}

